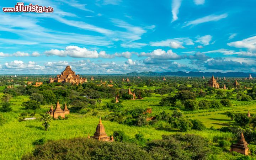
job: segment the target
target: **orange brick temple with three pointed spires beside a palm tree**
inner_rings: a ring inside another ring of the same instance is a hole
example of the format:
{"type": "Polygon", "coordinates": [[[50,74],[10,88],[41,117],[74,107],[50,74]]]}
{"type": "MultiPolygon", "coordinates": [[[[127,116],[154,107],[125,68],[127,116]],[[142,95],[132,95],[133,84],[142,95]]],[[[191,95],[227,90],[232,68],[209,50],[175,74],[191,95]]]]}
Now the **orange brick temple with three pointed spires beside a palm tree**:
{"type": "Polygon", "coordinates": [[[50,114],[50,116],[52,116],[53,118],[58,119],[59,116],[62,118],[65,118],[65,114],[69,114],[69,110],[68,110],[68,107],[66,106],[66,103],[65,103],[64,109],[62,110],[62,108],[60,108],[60,104],[58,100],[55,109],[53,110],[53,105],[51,105],[51,108],[47,113],[50,114]]]}

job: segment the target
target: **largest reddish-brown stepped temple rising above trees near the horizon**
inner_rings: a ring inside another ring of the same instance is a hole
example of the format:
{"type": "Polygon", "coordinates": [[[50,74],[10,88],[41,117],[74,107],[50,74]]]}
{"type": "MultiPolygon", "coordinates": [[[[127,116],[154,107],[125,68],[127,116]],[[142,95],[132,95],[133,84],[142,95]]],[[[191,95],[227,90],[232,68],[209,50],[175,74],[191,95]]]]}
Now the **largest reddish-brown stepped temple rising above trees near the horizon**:
{"type": "Polygon", "coordinates": [[[56,78],[49,78],[49,83],[53,82],[69,82],[71,84],[82,84],[86,82],[87,79],[85,78],[80,78],[79,74],[75,74],[73,70],[71,70],[70,66],[66,66],[65,70],[59,75],[56,76],[56,78]]]}

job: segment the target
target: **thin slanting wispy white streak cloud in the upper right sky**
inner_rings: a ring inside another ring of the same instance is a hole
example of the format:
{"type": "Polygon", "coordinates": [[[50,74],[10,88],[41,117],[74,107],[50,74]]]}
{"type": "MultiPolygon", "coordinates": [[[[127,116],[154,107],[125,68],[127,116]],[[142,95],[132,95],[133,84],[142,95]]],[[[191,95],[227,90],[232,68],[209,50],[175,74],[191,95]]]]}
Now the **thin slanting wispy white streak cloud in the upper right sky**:
{"type": "Polygon", "coordinates": [[[182,27],[186,27],[186,26],[190,26],[190,25],[198,25],[198,24],[206,23],[206,22],[219,21],[219,20],[221,20],[223,18],[226,18],[226,17],[228,17],[228,14],[209,15],[209,16],[198,18],[198,19],[193,20],[193,21],[185,22],[184,26],[182,26],[182,27]]]}

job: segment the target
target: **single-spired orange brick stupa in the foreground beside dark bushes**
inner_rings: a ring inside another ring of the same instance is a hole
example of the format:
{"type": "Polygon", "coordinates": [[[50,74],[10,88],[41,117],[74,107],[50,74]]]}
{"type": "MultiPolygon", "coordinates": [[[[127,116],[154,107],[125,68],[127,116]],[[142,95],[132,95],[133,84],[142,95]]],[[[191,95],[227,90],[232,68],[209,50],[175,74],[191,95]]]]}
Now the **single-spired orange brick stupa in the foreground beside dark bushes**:
{"type": "MultiPolygon", "coordinates": [[[[88,138],[90,138],[89,134],[88,134],[88,138]]],[[[113,135],[111,135],[111,137],[108,137],[107,134],[105,133],[105,128],[101,122],[101,118],[100,118],[100,122],[98,123],[98,126],[96,128],[96,132],[94,133],[94,135],[91,138],[105,141],[105,142],[113,142],[114,141],[113,135]]]]}

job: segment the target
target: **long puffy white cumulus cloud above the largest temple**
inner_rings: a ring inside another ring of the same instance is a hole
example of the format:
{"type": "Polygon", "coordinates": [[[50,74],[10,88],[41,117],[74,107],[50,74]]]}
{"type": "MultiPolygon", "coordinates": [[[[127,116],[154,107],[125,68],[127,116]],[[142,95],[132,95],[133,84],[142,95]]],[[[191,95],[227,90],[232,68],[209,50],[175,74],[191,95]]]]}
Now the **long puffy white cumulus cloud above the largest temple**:
{"type": "Polygon", "coordinates": [[[86,48],[80,48],[78,46],[68,46],[64,50],[51,49],[44,52],[47,56],[57,55],[60,57],[74,57],[74,58],[110,58],[111,55],[106,54],[104,51],[99,53],[96,50],[87,50],[86,48]]]}

